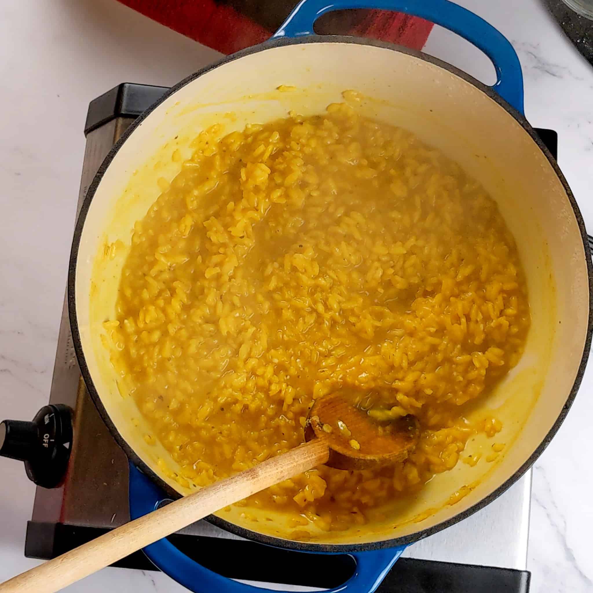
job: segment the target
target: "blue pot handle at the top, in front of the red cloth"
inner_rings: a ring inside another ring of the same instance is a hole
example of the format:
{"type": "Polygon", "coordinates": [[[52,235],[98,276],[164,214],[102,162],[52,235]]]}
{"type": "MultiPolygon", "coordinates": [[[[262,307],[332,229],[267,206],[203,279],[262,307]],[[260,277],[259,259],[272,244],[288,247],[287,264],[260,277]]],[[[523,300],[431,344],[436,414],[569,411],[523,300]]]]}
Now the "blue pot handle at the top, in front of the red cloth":
{"type": "Polygon", "coordinates": [[[312,35],[313,24],[321,15],[345,8],[406,12],[457,33],[492,60],[496,69],[496,84],[492,88],[519,113],[524,113],[521,64],[509,40],[477,14],[448,0],[301,0],[274,37],[312,35]]]}

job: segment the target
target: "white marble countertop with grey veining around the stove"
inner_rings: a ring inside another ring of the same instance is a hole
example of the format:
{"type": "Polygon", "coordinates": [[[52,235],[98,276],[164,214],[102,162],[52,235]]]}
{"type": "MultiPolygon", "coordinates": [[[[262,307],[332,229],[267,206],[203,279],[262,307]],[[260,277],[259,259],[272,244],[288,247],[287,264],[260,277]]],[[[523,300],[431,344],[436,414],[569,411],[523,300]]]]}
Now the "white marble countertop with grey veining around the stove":
{"type": "MultiPolygon", "coordinates": [[[[593,67],[539,0],[463,0],[518,52],[525,113],[559,133],[559,164],[593,231],[593,67]]],[[[493,82],[488,60],[435,28],[425,50],[493,82]]],[[[114,0],[0,2],[0,417],[47,403],[74,225],[88,102],[120,82],[171,85],[218,55],[114,0]]],[[[537,461],[528,568],[533,593],[593,591],[593,371],[537,461]]],[[[0,459],[0,582],[23,556],[34,486],[0,459]]],[[[69,591],[185,591],[160,573],[104,569],[69,591]]]]}

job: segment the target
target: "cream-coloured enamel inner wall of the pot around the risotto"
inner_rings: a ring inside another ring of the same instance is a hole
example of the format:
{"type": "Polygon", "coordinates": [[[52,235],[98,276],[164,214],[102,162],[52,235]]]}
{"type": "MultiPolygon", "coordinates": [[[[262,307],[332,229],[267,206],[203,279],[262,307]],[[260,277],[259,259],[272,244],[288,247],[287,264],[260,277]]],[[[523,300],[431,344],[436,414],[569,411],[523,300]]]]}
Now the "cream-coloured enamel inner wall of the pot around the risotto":
{"type": "MultiPolygon", "coordinates": [[[[495,462],[482,460],[473,468],[458,463],[438,474],[417,498],[389,509],[387,521],[346,532],[313,532],[312,544],[363,544],[412,535],[466,511],[509,480],[566,403],[589,313],[585,251],[566,191],[533,139],[496,101],[441,66],[385,47],[345,42],[268,46],[193,79],[152,111],[105,171],[82,230],[75,297],[88,371],[120,435],[155,473],[162,476],[158,458],[171,467],[173,461],[159,445],[144,441],[148,428],[133,399],[119,393],[101,343],[102,322],[114,315],[119,270],[134,222],[160,194],[159,180],[178,173],[173,151],[189,155],[189,142],[204,127],[224,122],[231,131],[247,122],[283,117],[289,109],[320,113],[348,89],[370,98],[362,107],[367,115],[412,130],[457,160],[495,198],[527,272],[532,325],[520,364],[474,412],[492,410],[503,422],[496,441],[506,448],[495,462]],[[296,88],[280,92],[279,85],[296,88]],[[114,244],[118,248],[109,250],[114,244]],[[464,485],[473,487],[471,492],[447,504],[464,485]]],[[[490,445],[477,438],[466,451],[486,451],[490,445]]],[[[255,522],[242,518],[244,511],[220,516],[257,533],[288,538],[285,518],[264,521],[259,515],[255,522]]]]}

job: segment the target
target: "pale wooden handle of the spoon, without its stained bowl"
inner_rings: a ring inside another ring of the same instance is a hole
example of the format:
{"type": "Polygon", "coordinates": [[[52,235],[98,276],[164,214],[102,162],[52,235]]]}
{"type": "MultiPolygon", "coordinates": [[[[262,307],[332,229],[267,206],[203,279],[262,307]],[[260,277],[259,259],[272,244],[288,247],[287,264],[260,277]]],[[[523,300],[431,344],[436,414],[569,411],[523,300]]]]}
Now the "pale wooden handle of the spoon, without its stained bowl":
{"type": "Polygon", "coordinates": [[[324,439],[313,439],[27,570],[1,584],[0,593],[59,591],[227,505],[326,463],[328,458],[324,439]]]}

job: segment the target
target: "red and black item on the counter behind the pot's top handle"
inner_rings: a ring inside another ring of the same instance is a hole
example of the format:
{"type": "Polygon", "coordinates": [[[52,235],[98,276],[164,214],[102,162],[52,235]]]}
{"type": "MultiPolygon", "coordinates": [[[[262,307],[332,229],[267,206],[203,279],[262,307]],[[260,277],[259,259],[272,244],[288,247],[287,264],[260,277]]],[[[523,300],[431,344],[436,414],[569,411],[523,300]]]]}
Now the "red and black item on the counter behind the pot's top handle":
{"type": "MultiPolygon", "coordinates": [[[[174,31],[222,53],[272,35],[297,0],[119,0],[174,31]]],[[[348,34],[422,49],[432,23],[384,10],[330,12],[315,24],[321,34],[348,34]]]]}

